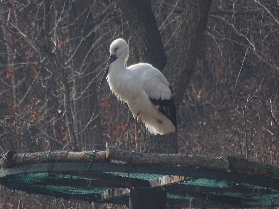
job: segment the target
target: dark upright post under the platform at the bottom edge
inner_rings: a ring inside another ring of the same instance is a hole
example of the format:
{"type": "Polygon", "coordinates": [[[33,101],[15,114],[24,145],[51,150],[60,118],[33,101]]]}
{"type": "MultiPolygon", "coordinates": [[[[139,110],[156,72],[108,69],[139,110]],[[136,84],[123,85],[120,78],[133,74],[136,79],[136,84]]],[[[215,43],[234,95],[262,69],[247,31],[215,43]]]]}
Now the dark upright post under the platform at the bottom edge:
{"type": "Polygon", "coordinates": [[[129,209],[166,209],[167,192],[150,188],[131,188],[129,209]]]}

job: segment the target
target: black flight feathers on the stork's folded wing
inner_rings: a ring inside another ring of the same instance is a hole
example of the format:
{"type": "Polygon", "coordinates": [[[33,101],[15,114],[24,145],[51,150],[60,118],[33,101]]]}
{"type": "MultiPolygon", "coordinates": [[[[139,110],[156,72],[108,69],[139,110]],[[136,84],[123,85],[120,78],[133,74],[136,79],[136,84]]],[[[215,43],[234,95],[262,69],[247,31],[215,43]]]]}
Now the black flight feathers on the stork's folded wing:
{"type": "Polygon", "coordinates": [[[159,106],[159,112],[162,113],[164,116],[169,118],[169,120],[174,125],[175,129],[176,124],[176,108],[174,105],[174,98],[170,98],[169,100],[161,100],[161,99],[152,99],[149,98],[153,105],[159,106]]]}

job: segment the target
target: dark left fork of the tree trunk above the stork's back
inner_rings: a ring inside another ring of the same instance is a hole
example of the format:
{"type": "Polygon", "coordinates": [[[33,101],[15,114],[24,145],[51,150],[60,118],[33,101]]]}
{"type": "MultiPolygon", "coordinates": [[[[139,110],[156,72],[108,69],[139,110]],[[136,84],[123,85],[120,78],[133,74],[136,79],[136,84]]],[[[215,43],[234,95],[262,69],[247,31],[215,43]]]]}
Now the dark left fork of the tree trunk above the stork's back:
{"type": "Polygon", "coordinates": [[[116,0],[130,28],[136,62],[147,62],[162,71],[167,58],[150,0],[116,0]]]}

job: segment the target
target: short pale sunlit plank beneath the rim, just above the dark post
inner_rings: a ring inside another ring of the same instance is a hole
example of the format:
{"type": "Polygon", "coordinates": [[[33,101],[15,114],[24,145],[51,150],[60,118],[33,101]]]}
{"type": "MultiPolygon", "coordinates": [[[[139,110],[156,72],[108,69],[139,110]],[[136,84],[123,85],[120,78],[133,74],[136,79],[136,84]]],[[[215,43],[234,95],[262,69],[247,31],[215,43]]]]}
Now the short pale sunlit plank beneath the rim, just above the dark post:
{"type": "Polygon", "coordinates": [[[179,181],[186,181],[189,180],[189,177],[186,176],[163,176],[158,179],[149,180],[151,188],[153,187],[162,187],[167,185],[176,184],[179,181]]]}

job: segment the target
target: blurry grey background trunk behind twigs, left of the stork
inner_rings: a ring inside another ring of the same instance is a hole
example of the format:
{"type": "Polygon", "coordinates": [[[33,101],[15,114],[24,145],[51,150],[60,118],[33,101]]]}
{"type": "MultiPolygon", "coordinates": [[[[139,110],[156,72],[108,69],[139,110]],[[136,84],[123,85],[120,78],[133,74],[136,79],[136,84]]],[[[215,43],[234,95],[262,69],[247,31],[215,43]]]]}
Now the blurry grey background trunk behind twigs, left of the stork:
{"type": "Polygon", "coordinates": [[[94,72],[95,66],[92,62],[93,54],[90,52],[92,50],[90,47],[94,43],[95,35],[93,33],[87,36],[93,28],[92,24],[94,24],[90,13],[91,3],[90,0],[74,2],[71,10],[71,17],[75,22],[71,31],[71,36],[75,37],[72,48],[78,47],[71,62],[74,70],[80,73],[73,82],[71,107],[79,150],[102,149],[105,147],[98,115],[97,87],[96,82],[92,82],[96,73],[91,73],[94,72]],[[78,38],[76,39],[76,37],[78,38]]]}

